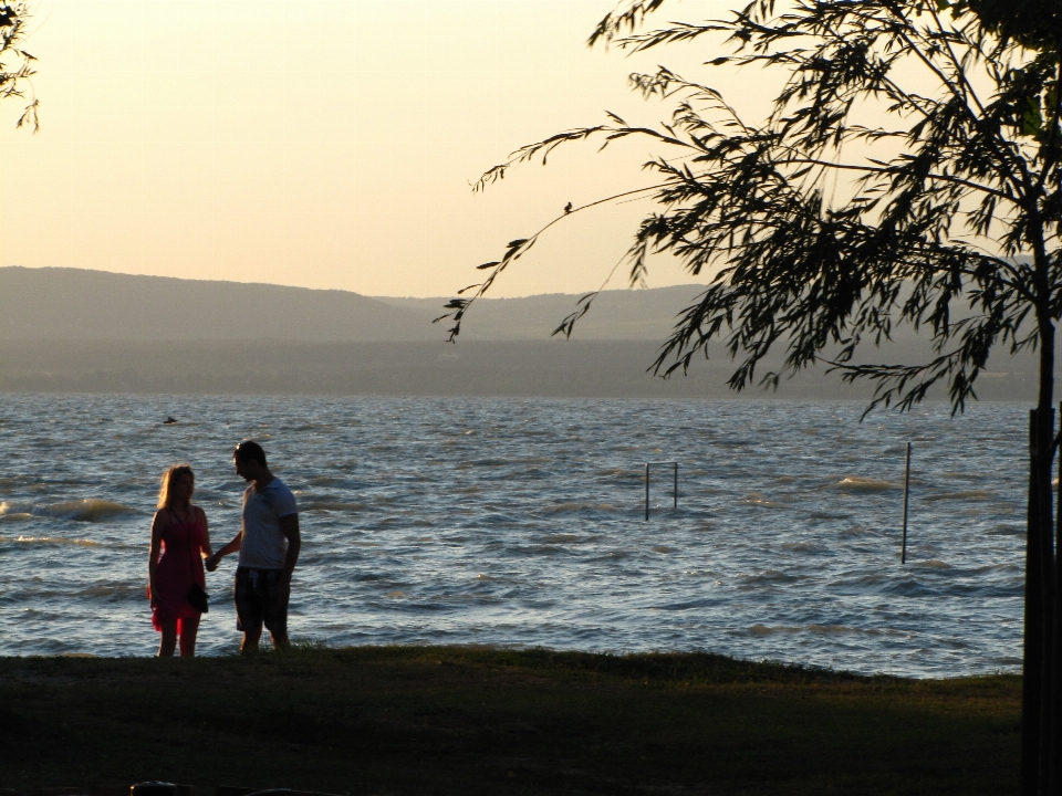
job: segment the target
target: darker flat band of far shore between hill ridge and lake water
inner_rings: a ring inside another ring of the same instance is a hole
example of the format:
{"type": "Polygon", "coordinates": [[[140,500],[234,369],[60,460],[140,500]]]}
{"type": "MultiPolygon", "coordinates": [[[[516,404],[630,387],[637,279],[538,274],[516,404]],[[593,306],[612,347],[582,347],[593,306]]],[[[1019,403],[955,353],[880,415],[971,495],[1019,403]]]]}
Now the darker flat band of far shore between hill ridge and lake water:
{"type": "MultiPolygon", "coordinates": [[[[777,392],[735,392],[729,359],[695,360],[688,375],[663,379],[647,373],[657,354],[650,341],[4,341],[0,392],[831,401],[873,394],[821,369],[783,378],[777,392]]],[[[977,383],[987,401],[1034,401],[1035,390],[1035,373],[1020,367],[977,383]]]]}

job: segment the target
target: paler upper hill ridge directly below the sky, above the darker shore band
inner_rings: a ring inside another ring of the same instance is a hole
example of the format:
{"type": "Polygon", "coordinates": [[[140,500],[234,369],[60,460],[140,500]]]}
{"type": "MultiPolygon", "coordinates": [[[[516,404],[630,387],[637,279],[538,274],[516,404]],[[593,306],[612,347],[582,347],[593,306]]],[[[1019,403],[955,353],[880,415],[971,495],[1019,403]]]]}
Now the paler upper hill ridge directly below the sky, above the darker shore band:
{"type": "MultiPolygon", "coordinates": [[[[580,322],[580,339],[663,341],[696,285],[605,291],[580,322]]],[[[579,296],[483,298],[461,339],[546,339],[579,296]]],[[[368,297],[348,291],[134,276],[81,269],[0,268],[0,339],[444,339],[431,321],[447,298],[368,297]]]]}

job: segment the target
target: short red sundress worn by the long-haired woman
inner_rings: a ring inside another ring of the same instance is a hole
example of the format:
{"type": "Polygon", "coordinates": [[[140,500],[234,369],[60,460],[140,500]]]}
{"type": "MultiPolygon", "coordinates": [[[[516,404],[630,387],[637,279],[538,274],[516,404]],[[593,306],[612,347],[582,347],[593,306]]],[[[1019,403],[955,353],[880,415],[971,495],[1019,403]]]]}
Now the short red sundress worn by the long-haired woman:
{"type": "Polygon", "coordinates": [[[158,603],[152,610],[152,625],[163,629],[163,622],[177,619],[199,618],[199,611],[188,601],[188,588],[192,580],[207,588],[202,572],[202,526],[195,512],[186,522],[178,522],[170,512],[170,523],[163,532],[163,551],[155,566],[155,585],[158,603]]]}

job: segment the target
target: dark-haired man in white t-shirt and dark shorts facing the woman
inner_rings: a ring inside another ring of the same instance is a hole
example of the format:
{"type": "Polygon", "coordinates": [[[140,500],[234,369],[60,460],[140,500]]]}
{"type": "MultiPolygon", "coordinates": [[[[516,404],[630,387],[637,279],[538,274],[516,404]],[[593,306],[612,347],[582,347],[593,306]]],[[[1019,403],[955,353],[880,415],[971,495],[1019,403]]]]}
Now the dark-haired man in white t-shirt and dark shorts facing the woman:
{"type": "Polygon", "coordinates": [[[295,496],[269,471],[262,447],[253,440],[240,442],[232,461],[237,474],[250,482],[243,491],[240,533],[207,558],[207,569],[214,572],[223,556],[240,552],[233,588],[236,627],[243,631],[240,652],[253,654],[262,626],[269,630],[273,649],[289,643],[288,600],[302,537],[295,496]]]}

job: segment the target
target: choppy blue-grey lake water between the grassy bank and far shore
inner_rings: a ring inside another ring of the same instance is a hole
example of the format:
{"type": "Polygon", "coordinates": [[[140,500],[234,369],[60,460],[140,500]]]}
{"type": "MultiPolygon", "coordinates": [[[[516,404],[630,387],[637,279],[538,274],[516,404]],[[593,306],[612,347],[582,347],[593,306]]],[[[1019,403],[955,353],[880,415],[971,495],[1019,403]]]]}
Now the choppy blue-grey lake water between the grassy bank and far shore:
{"type": "MultiPolygon", "coordinates": [[[[1020,664],[1027,408],[0,396],[0,654],[147,656],[158,475],[215,545],[263,442],[304,547],[294,639],[711,650],[862,672],[1020,664]],[[165,426],[167,415],[179,419],[165,426]],[[904,449],[914,443],[908,565],[904,449]],[[644,462],[655,471],[644,521],[644,462]],[[656,480],[656,475],[659,480],[656,480]]],[[[235,556],[199,651],[238,642],[235,556]]]]}

